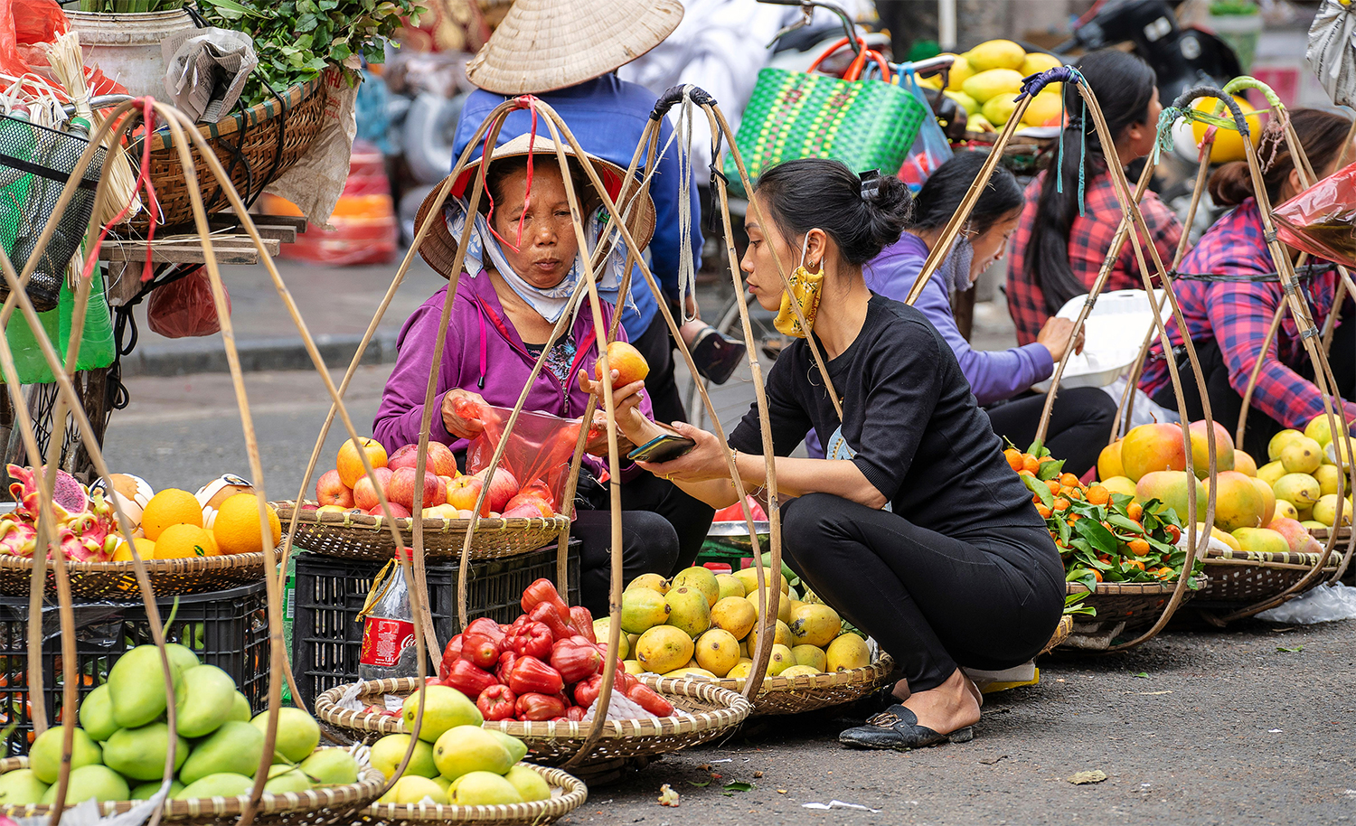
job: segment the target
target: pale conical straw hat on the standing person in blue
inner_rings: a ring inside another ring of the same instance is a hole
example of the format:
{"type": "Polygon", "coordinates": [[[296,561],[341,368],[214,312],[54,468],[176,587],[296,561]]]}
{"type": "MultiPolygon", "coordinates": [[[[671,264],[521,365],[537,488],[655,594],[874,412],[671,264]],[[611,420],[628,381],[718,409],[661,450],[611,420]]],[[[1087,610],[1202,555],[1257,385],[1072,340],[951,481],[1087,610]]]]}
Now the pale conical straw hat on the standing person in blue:
{"type": "Polygon", "coordinates": [[[629,64],[681,20],[679,0],[517,0],[466,77],[496,95],[561,90],[629,64]]]}

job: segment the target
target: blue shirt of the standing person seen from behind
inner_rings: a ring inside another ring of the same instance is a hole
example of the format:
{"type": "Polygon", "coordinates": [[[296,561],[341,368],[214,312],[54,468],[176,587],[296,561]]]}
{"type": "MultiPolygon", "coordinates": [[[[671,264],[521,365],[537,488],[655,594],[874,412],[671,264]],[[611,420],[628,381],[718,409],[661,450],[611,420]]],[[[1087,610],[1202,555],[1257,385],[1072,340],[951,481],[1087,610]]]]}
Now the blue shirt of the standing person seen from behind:
{"type": "MultiPolygon", "coordinates": [[[[549,103],[570,125],[579,145],[590,155],[612,161],[621,168],[631,167],[636,145],[655,107],[655,95],[643,85],[603,75],[578,85],[537,95],[549,103]]],[[[461,157],[471,138],[480,129],[490,113],[507,100],[484,90],[476,90],[466,98],[457,122],[457,133],[452,142],[453,163],[461,157]]],[[[499,132],[499,144],[506,144],[532,129],[532,113],[521,110],[511,113],[499,132]]],[[[538,119],[537,133],[551,137],[551,132],[538,119]]],[[[660,125],[659,146],[663,149],[673,134],[669,121],[660,125]]],[[[472,157],[480,157],[480,148],[472,157]]],[[[650,240],[651,271],[670,301],[678,300],[678,262],[681,255],[692,255],[694,266],[701,266],[701,206],[697,190],[692,190],[692,250],[683,251],[678,229],[678,152],[674,146],[660,159],[655,176],[650,183],[650,195],[655,201],[655,236],[650,240]]],[[[635,309],[626,308],[621,323],[632,340],[640,338],[650,327],[659,307],[650,288],[645,286],[640,270],[632,273],[632,300],[635,309]]]]}

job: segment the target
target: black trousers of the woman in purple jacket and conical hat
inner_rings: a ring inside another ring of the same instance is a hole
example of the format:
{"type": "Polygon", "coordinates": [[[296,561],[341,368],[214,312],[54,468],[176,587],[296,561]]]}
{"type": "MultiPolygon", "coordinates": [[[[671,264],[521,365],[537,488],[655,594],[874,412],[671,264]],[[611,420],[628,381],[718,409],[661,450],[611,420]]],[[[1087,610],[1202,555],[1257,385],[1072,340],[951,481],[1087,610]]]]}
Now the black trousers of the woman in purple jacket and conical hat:
{"type": "MultiPolygon", "coordinates": [[[[607,613],[612,585],[612,514],[607,491],[580,472],[575,524],[580,540],[580,599],[595,617],[607,613]]],[[[641,574],[673,576],[697,559],[715,515],[705,502],[678,486],[641,471],[621,484],[621,570],[624,582],[641,574]]]]}

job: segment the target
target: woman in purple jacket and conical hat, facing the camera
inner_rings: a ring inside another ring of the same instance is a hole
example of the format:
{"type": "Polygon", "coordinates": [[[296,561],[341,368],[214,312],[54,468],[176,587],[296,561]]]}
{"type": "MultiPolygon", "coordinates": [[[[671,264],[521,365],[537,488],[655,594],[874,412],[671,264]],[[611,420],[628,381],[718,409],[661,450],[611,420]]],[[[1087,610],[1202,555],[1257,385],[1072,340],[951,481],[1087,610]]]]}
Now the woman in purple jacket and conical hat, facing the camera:
{"type": "MultiPolygon", "coordinates": [[[[485,178],[490,197],[481,198],[485,212],[473,217],[475,231],[468,243],[465,271],[453,300],[438,370],[438,410],[431,419],[430,438],[452,448],[462,467],[468,441],[484,430],[483,422],[468,412],[476,407],[466,403],[511,408],[518,401],[552,328],[567,312],[565,305],[583,271],[555,144],[540,134],[536,137],[530,193],[527,144],[529,136],[522,136],[492,155],[485,178]]],[[[565,152],[574,155],[568,148],[565,152]]],[[[616,197],[625,172],[597,157],[590,160],[616,197]]],[[[582,170],[574,161],[570,165],[575,191],[584,198],[582,214],[589,221],[587,237],[597,243],[603,224],[599,198],[593,194],[582,170]]],[[[445,277],[456,256],[454,239],[461,237],[465,225],[466,201],[462,195],[475,174],[476,168],[462,172],[452,189],[452,198],[439,210],[445,220],[434,225],[420,247],[424,259],[445,277]]],[[[433,201],[438,189],[424,201],[416,224],[435,209],[433,201]]],[[[654,206],[647,198],[633,213],[629,227],[637,243],[644,244],[654,228],[654,206]]],[[[602,264],[598,288],[605,298],[602,315],[609,324],[625,260],[625,247],[618,245],[602,264]]],[[[438,290],[410,316],[396,342],[396,366],[373,423],[377,441],[388,449],[419,439],[424,389],[446,290],[438,290]]],[[[617,336],[625,340],[625,330],[618,328],[617,336]]],[[[546,354],[523,410],[582,416],[589,393],[571,377],[580,370],[593,374],[597,358],[593,309],[586,297],[574,323],[546,354]]],[[[641,410],[650,415],[648,399],[641,410]]],[[[595,419],[599,418],[602,414],[595,415],[595,419]]],[[[628,449],[628,444],[621,446],[622,453],[628,449]]],[[[597,458],[606,456],[606,435],[595,438],[587,450],[590,456],[579,480],[571,534],[583,545],[583,604],[598,613],[606,610],[610,581],[607,492],[598,483],[606,463],[597,458]]],[[[631,464],[622,464],[621,503],[621,552],[628,581],[647,572],[670,576],[692,564],[711,526],[713,509],[631,464]]]]}

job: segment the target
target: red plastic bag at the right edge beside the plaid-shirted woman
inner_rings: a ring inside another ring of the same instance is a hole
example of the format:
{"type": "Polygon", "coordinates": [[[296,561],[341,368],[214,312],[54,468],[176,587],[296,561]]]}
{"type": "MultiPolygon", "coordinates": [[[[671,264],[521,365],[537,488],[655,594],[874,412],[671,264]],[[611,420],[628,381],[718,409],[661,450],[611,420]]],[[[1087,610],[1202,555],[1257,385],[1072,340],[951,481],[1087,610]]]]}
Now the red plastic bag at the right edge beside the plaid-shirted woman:
{"type": "Polygon", "coordinates": [[[1356,164],[1275,208],[1272,216],[1277,236],[1291,247],[1356,266],[1356,164]]]}

